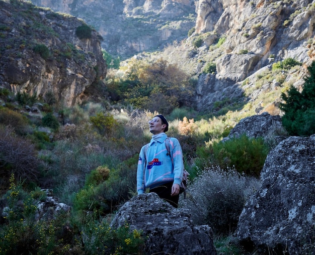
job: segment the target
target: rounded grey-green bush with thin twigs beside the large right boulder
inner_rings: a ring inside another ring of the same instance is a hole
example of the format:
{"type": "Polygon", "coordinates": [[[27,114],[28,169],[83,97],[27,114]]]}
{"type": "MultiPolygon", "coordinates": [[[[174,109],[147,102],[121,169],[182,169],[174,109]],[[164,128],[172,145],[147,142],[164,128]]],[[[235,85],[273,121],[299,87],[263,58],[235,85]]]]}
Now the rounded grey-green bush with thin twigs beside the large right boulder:
{"type": "Polygon", "coordinates": [[[211,167],[189,185],[187,199],[203,224],[209,224],[215,234],[227,234],[236,229],[245,202],[259,187],[256,178],[211,167]]]}

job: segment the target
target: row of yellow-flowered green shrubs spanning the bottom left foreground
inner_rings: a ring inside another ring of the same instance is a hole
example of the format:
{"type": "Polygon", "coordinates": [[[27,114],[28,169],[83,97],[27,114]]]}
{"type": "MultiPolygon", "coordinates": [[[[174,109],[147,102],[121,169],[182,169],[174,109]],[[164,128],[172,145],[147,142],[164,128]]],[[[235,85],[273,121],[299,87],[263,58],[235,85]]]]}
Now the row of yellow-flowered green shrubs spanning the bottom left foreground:
{"type": "Polygon", "coordinates": [[[0,254],[142,254],[141,230],[130,231],[128,225],[113,229],[96,220],[95,214],[80,221],[60,210],[53,219],[35,220],[36,205],[45,200],[44,193],[39,188],[25,192],[11,175],[10,190],[2,198],[7,209],[0,225],[0,254]]]}

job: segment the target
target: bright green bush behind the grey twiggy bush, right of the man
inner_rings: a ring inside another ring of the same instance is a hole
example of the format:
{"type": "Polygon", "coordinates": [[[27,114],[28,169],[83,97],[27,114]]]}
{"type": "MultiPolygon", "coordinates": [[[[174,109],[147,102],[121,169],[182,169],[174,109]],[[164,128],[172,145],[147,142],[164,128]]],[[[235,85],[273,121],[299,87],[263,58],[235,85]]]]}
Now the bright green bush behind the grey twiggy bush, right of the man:
{"type": "Polygon", "coordinates": [[[239,173],[258,177],[268,152],[262,138],[250,139],[242,135],[240,138],[197,148],[199,159],[196,165],[200,169],[215,165],[222,169],[235,167],[239,173]]]}

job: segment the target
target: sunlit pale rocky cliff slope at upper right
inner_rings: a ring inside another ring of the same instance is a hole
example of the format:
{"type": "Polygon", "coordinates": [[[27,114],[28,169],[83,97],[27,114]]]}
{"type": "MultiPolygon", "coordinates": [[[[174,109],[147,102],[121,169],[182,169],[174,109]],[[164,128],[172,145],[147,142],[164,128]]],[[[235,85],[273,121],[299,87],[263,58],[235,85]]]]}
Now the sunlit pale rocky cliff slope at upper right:
{"type": "Polygon", "coordinates": [[[169,47],[164,56],[198,76],[200,111],[237,102],[239,108],[250,103],[251,114],[279,114],[275,108],[281,91],[290,85],[301,87],[305,66],[314,60],[314,10],[315,2],[309,0],[200,0],[196,32],[181,45],[169,47]],[[301,66],[282,73],[272,69],[273,63],[288,58],[301,66]],[[208,63],[215,65],[215,72],[203,73],[208,63]],[[273,94],[274,100],[262,96],[266,94],[273,94]]]}

